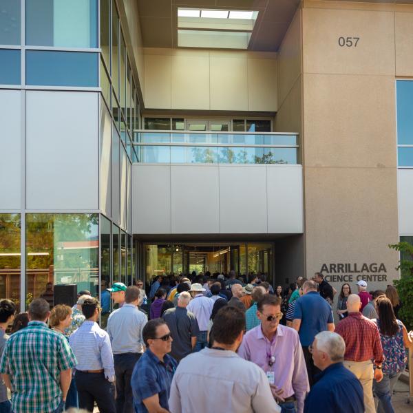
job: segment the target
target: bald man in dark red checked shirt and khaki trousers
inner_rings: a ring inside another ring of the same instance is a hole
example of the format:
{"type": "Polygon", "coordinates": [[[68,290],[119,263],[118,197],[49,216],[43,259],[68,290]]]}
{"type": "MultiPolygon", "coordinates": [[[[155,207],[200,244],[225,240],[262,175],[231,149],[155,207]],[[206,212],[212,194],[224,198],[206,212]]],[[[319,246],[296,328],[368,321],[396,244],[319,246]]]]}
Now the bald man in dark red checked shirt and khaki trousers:
{"type": "Polygon", "coordinates": [[[383,379],[383,348],[377,325],[360,313],[360,306],[359,295],[351,294],[347,300],[348,317],[339,322],[335,332],[346,342],[344,366],[354,373],[363,386],[366,413],[375,413],[372,385],[373,377],[376,381],[383,379]]]}

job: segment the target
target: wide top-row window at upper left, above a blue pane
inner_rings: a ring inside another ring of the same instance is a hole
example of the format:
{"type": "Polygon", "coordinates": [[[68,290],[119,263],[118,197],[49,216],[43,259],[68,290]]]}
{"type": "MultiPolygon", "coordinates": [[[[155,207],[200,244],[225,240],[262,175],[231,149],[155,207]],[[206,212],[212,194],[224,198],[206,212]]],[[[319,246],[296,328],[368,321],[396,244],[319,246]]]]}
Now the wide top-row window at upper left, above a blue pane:
{"type": "Polygon", "coordinates": [[[26,44],[98,47],[98,0],[26,0],[26,44]]]}

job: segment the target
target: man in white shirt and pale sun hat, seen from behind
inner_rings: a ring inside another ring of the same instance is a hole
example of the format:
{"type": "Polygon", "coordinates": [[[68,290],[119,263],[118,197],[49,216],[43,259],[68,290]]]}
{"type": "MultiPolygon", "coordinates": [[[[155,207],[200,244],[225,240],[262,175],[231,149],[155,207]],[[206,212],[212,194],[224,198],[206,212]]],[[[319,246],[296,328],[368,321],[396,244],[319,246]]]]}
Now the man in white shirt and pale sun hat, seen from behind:
{"type": "Polygon", "coordinates": [[[205,288],[203,288],[198,282],[192,284],[191,290],[189,290],[189,293],[193,298],[188,304],[187,310],[195,315],[200,328],[200,332],[198,333],[198,337],[196,339],[196,345],[193,349],[194,352],[202,350],[202,348],[205,348],[208,343],[208,324],[209,319],[211,318],[213,300],[205,297],[203,294],[204,291],[205,288]]]}

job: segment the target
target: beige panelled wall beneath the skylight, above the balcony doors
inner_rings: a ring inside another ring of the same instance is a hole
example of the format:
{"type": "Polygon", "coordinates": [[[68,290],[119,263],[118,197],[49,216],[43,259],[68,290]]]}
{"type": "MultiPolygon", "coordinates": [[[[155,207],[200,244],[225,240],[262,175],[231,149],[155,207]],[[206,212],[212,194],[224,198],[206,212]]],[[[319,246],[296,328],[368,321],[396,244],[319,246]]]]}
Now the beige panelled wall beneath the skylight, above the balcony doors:
{"type": "Polygon", "coordinates": [[[275,53],[145,48],[145,108],[275,112],[275,53]]]}

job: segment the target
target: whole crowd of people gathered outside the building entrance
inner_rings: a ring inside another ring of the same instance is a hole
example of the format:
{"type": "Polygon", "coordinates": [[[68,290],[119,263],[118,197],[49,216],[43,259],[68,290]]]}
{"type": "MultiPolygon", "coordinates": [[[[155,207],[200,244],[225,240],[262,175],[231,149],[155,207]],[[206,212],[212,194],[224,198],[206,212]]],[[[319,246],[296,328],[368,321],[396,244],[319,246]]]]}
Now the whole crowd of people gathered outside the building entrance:
{"type": "Polygon", "coordinates": [[[373,413],[374,398],[394,412],[413,332],[393,286],[343,284],[335,323],[337,291],[321,273],[285,290],[243,281],[115,282],[100,301],[81,291],[72,308],[51,308],[42,297],[19,315],[2,299],[0,412],[373,413]]]}

